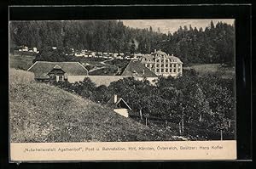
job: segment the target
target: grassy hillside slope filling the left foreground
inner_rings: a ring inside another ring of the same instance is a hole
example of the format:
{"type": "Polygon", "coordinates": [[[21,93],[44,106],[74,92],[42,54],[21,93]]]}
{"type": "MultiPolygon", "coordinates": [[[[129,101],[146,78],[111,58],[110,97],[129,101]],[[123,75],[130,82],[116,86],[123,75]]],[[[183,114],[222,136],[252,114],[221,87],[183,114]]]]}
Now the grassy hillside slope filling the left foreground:
{"type": "Polygon", "coordinates": [[[145,127],[101,104],[58,87],[33,82],[30,72],[10,70],[9,84],[12,142],[173,139],[170,130],[145,127]]]}

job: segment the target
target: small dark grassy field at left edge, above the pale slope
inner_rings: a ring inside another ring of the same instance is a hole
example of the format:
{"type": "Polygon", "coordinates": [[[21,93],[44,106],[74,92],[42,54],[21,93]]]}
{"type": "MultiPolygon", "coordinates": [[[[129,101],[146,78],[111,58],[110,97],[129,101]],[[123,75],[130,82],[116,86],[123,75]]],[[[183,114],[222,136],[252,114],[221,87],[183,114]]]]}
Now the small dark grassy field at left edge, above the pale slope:
{"type": "Polygon", "coordinates": [[[30,66],[33,65],[33,59],[35,59],[35,56],[9,54],[9,67],[20,70],[27,70],[30,66]]]}

